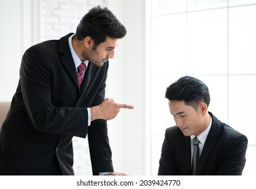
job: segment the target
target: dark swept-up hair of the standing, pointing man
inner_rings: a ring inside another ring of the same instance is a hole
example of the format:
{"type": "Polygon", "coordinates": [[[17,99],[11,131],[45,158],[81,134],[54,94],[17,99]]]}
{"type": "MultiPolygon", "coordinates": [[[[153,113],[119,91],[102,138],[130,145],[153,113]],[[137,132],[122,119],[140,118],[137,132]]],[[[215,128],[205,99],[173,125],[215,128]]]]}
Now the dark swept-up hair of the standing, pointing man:
{"type": "Polygon", "coordinates": [[[107,7],[93,7],[81,19],[77,26],[76,36],[81,41],[86,36],[90,36],[95,47],[110,38],[123,38],[127,33],[125,26],[117,20],[107,7]]]}

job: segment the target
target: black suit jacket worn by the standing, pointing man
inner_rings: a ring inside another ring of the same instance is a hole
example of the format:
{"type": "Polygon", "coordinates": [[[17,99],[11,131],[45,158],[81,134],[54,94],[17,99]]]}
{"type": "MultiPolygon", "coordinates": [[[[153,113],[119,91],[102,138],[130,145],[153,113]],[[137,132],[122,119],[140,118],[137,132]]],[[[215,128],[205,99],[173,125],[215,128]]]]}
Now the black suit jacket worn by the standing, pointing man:
{"type": "Polygon", "coordinates": [[[73,136],[88,136],[93,175],[113,171],[106,121],[87,126],[87,107],[104,101],[108,62],[89,63],[80,88],[70,35],[30,47],[22,57],[0,132],[1,175],[73,175],[73,136]]]}

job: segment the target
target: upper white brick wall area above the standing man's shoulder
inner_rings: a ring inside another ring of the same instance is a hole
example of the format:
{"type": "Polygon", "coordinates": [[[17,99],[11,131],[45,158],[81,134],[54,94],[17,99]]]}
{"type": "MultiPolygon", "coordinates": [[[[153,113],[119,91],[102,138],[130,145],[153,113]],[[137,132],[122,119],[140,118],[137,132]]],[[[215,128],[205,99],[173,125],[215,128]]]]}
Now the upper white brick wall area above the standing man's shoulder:
{"type": "Polygon", "coordinates": [[[41,0],[42,41],[75,32],[87,11],[104,3],[104,0],[41,0]]]}

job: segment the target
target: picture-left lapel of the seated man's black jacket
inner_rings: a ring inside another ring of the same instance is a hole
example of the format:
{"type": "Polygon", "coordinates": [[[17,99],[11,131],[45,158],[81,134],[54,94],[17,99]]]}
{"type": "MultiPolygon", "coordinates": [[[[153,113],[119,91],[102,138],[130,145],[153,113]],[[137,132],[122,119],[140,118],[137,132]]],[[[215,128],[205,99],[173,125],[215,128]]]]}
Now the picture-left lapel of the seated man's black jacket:
{"type": "Polygon", "coordinates": [[[182,175],[190,175],[191,167],[191,148],[190,148],[190,137],[180,136],[179,137],[179,154],[182,175]]]}

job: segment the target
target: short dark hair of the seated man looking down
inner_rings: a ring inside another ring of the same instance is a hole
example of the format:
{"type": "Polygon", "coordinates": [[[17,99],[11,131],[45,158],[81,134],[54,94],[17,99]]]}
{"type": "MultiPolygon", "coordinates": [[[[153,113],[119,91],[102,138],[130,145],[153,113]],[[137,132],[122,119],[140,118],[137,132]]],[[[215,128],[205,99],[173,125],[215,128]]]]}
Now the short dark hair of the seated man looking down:
{"type": "Polygon", "coordinates": [[[169,101],[184,101],[195,110],[202,102],[208,107],[211,101],[207,85],[191,76],[184,76],[171,84],[166,90],[165,98],[169,101]]]}

